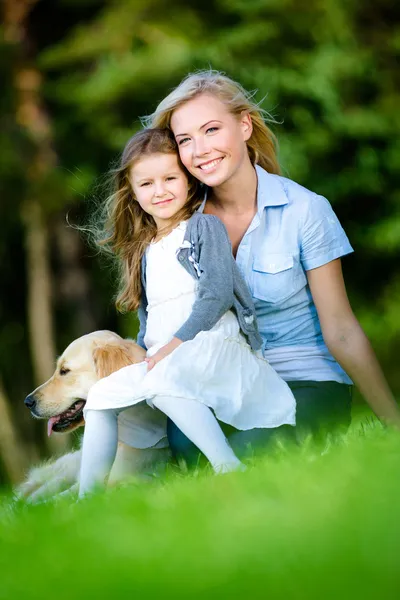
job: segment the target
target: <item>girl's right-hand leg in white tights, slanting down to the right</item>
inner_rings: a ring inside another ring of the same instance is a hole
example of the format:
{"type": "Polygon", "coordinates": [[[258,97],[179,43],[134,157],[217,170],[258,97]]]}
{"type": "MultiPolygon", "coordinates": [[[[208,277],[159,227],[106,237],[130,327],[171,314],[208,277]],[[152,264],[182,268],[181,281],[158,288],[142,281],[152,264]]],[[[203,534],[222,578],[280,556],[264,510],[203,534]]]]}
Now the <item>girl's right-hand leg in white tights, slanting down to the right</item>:
{"type": "Polygon", "coordinates": [[[226,473],[242,466],[208,406],[169,396],[157,396],[152,402],[203,452],[215,472],[226,473]]]}

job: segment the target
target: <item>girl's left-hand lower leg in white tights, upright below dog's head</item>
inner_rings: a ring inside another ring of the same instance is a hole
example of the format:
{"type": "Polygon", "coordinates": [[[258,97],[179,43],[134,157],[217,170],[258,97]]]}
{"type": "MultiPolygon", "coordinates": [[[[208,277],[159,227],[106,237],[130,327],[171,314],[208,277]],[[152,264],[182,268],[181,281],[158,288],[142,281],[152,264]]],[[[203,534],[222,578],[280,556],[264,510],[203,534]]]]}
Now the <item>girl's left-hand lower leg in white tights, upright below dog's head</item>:
{"type": "Polygon", "coordinates": [[[120,410],[87,410],[79,476],[79,496],[105,486],[118,446],[120,410]]]}

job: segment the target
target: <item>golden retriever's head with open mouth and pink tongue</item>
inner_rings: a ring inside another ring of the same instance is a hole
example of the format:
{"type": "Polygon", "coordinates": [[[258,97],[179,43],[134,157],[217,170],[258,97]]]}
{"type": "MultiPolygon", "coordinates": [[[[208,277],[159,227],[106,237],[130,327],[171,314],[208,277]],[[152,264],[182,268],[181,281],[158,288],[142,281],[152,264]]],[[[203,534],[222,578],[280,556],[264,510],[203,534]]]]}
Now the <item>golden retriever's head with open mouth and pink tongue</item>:
{"type": "Polygon", "coordinates": [[[84,424],[83,408],[92,385],[133,363],[144,360],[145,351],[135,342],[111,331],[95,331],[68,346],[46,383],[25,398],[38,419],[48,419],[48,434],[65,433],[84,424]]]}

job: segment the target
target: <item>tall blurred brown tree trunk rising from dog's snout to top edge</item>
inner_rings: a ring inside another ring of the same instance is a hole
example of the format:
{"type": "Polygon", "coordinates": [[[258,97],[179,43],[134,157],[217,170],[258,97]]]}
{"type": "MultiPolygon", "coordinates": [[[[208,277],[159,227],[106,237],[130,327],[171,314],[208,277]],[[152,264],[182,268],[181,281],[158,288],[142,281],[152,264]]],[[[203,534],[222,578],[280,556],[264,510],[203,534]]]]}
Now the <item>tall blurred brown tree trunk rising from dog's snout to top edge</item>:
{"type": "MultiPolygon", "coordinates": [[[[4,0],[4,35],[15,44],[19,60],[14,69],[16,121],[25,128],[33,146],[33,156],[26,165],[31,190],[23,208],[26,231],[27,312],[34,377],[37,384],[46,381],[54,370],[55,346],[51,306],[51,269],[48,232],[43,197],[40,190],[57,164],[52,147],[50,120],[42,103],[42,76],[31,64],[31,47],[27,17],[36,0],[4,0]]],[[[42,192],[43,193],[43,192],[42,192]]],[[[43,427],[45,433],[45,427],[43,427]]],[[[51,452],[70,446],[68,436],[46,438],[51,452]]]]}

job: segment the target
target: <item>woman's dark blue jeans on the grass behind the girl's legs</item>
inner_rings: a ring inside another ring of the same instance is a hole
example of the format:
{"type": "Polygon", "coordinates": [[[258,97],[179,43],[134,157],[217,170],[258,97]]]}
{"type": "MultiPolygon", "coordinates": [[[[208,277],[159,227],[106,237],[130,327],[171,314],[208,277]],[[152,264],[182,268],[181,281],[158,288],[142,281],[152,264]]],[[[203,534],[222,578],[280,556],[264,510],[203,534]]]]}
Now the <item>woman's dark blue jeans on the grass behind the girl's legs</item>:
{"type": "MultiPolygon", "coordinates": [[[[351,421],[352,386],[336,381],[289,381],[296,398],[296,427],[282,425],[275,429],[239,431],[220,423],[233,450],[239,458],[268,449],[277,437],[301,441],[312,433],[324,439],[328,433],[346,431],[351,421]]],[[[178,429],[173,421],[167,423],[168,441],[175,459],[184,459],[189,467],[199,463],[201,452],[178,429]]]]}

